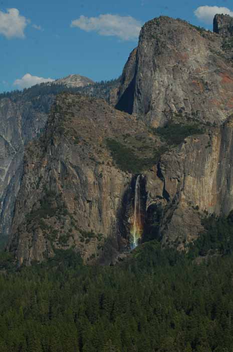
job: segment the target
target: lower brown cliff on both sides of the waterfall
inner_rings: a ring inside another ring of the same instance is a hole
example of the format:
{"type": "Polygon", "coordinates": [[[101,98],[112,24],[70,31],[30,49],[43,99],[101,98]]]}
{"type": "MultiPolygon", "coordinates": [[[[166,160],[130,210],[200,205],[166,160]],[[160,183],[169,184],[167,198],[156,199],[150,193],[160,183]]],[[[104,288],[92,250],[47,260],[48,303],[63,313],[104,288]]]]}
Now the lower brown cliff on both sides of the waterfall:
{"type": "MultiPolygon", "coordinates": [[[[56,248],[74,248],[86,262],[110,262],[129,248],[136,177],[113,162],[106,145],[125,131],[128,140],[150,136],[143,123],[104,101],[57,98],[45,135],[26,149],[9,242],[20,264],[53,256],[56,248]]],[[[201,217],[230,212],[232,133],[233,116],[144,168],[142,240],[151,232],[164,245],[185,249],[203,230],[201,217]]]]}

